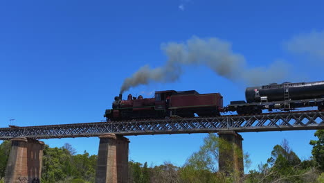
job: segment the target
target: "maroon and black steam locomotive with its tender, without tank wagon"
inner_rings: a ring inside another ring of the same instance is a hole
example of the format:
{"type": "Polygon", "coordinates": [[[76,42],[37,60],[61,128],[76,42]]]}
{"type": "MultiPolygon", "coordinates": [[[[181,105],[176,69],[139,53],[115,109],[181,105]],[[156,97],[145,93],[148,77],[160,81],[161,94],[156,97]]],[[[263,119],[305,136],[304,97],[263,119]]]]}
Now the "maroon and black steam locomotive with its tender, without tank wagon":
{"type": "Polygon", "coordinates": [[[219,93],[199,94],[195,90],[155,92],[154,98],[138,98],[128,95],[115,97],[111,110],[106,110],[109,120],[163,119],[170,116],[194,117],[219,116],[223,110],[223,96],[219,93]]]}

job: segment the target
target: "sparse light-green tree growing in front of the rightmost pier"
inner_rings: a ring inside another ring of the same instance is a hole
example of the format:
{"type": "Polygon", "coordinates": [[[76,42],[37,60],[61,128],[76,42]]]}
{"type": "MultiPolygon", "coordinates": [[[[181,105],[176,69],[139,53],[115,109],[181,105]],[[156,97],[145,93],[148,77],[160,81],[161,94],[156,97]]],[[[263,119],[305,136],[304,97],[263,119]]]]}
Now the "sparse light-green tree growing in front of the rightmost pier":
{"type": "Polygon", "coordinates": [[[204,138],[204,144],[199,148],[199,151],[193,153],[186,161],[185,165],[180,169],[181,179],[185,182],[233,182],[240,177],[240,172],[233,172],[232,160],[226,161],[228,170],[226,172],[233,173],[233,176],[226,177],[222,173],[218,173],[219,150],[225,152],[233,152],[234,157],[243,159],[249,165],[251,163],[249,154],[242,155],[242,149],[229,143],[225,139],[217,137],[215,134],[208,134],[204,138]]]}

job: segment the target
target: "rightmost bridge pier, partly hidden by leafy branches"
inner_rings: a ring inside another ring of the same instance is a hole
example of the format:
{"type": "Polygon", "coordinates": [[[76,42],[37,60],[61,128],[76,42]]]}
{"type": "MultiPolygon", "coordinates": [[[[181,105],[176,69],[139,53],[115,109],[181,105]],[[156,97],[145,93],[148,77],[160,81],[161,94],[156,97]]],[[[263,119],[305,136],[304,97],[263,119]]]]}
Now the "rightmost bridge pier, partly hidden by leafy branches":
{"type": "Polygon", "coordinates": [[[219,171],[240,177],[244,174],[242,136],[233,130],[217,133],[225,144],[219,147],[219,171]]]}

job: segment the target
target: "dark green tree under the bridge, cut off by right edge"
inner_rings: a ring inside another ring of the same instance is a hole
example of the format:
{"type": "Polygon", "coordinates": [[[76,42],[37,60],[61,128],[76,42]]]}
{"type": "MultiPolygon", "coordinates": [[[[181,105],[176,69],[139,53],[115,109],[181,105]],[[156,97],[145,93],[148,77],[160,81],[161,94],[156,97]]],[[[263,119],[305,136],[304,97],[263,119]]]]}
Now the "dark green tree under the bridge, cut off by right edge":
{"type": "Polygon", "coordinates": [[[313,146],[312,155],[321,171],[324,171],[324,130],[317,130],[314,134],[318,140],[311,140],[310,145],[313,146]]]}

